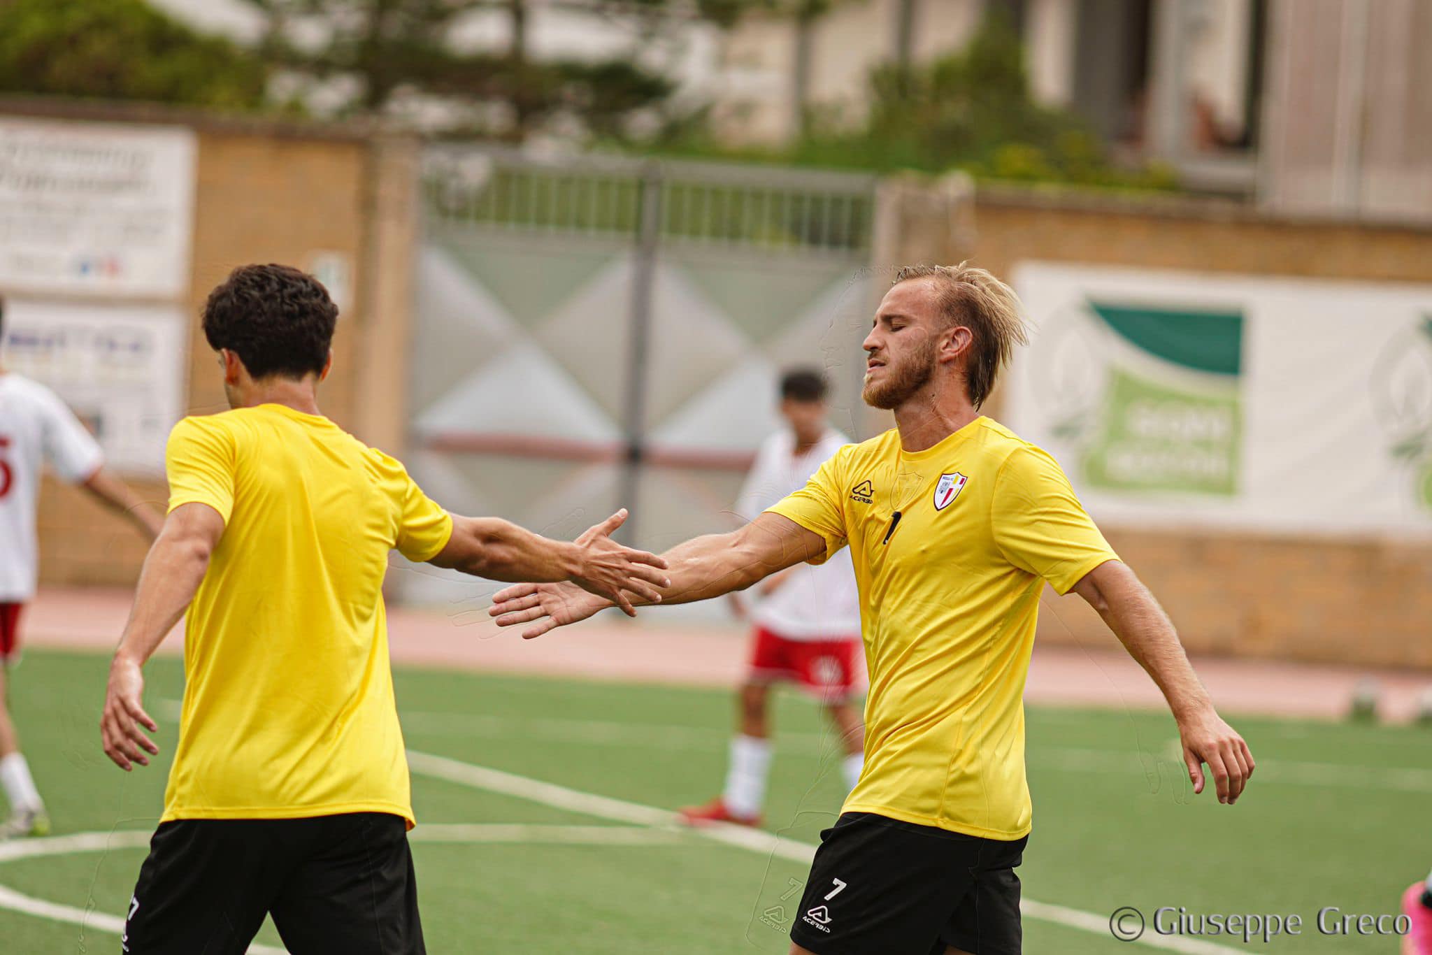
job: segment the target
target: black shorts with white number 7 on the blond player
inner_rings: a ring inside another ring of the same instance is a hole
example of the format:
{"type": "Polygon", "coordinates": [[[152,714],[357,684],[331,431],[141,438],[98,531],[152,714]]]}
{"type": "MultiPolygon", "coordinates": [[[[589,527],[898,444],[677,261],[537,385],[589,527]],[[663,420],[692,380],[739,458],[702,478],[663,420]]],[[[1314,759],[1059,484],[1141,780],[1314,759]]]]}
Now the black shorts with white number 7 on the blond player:
{"type": "Polygon", "coordinates": [[[821,833],[790,939],[816,955],[1020,955],[1025,842],[848,812],[821,833]]]}

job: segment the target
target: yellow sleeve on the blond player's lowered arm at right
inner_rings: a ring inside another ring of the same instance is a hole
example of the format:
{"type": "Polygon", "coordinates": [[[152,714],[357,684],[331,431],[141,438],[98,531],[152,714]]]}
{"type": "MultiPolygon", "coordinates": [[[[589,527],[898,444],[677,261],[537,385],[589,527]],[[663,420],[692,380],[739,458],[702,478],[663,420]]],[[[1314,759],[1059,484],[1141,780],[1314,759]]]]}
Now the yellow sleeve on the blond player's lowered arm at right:
{"type": "Polygon", "coordinates": [[[1100,564],[1118,560],[1058,462],[1040,448],[1024,447],[1005,460],[991,508],[994,540],[1005,560],[1061,594],[1100,564]]]}

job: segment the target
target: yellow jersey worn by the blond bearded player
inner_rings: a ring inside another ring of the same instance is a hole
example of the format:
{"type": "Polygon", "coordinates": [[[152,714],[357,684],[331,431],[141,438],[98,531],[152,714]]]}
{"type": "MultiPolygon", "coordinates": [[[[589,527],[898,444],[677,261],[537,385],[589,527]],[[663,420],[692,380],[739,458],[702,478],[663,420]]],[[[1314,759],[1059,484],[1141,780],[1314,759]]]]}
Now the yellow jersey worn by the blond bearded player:
{"type": "Polygon", "coordinates": [[[770,511],[825,538],[812,563],[849,543],[855,564],[871,689],[865,772],[843,812],[1027,835],[1040,590],[1067,593],[1117,560],[1054,458],[988,418],[915,452],[892,430],[836,451],[770,511]]]}

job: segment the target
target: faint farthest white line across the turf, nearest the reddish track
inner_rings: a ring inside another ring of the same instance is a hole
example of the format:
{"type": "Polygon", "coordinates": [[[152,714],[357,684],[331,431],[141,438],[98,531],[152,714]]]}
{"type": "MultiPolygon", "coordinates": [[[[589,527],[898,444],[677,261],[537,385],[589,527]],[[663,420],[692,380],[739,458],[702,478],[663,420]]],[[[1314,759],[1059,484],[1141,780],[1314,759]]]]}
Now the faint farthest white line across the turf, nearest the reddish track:
{"type": "MultiPolygon", "coordinates": [[[[179,717],[178,700],[160,700],[160,709],[170,719],[179,717]]],[[[699,726],[663,726],[660,723],[617,723],[560,717],[521,719],[513,716],[431,713],[421,710],[405,710],[401,719],[404,729],[430,736],[543,739],[557,743],[590,743],[593,746],[627,746],[633,749],[663,749],[672,752],[689,752],[693,749],[725,750],[730,743],[730,735],[725,730],[703,729],[699,726]]],[[[833,733],[778,733],[775,739],[783,759],[789,756],[822,757],[822,750],[833,749],[838,743],[833,733]]],[[[1154,760],[1157,763],[1169,762],[1179,775],[1183,773],[1183,757],[1179,756],[1177,749],[1170,749],[1166,753],[1153,753],[1137,749],[1032,745],[1027,749],[1027,759],[1031,766],[1094,773],[1131,772],[1140,766],[1151,766],[1148,760],[1154,760]]],[[[1263,759],[1259,760],[1256,779],[1260,785],[1389,789],[1393,792],[1432,793],[1432,769],[1263,759]]]]}

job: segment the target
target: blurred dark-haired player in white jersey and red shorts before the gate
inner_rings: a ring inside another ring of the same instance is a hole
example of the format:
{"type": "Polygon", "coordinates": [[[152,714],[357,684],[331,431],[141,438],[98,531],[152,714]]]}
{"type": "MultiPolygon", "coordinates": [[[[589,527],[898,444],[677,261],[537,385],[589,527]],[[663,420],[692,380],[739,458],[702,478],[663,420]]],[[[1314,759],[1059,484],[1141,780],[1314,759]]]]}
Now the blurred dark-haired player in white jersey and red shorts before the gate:
{"type": "MultiPolygon", "coordinates": [[[[851,440],[826,418],[826,382],[815,369],[786,372],[780,381],[780,414],[789,424],[766,438],[746,475],[736,514],[753,520],[786,494],[805,487],[816,468],[851,440]]],[[[841,739],[846,790],[855,787],[863,762],[865,736],[856,703],[862,670],[861,604],[848,554],[819,564],[796,564],[756,587],[759,603],[749,611],[753,626],[750,670],[740,687],[739,733],[730,743],[726,787],[705,806],[687,806],[692,825],[736,822],[758,825],[770,767],[770,684],[792,680],[818,700],[841,739]]],[[[733,593],[737,613],[742,594],[733,593]]]]}

